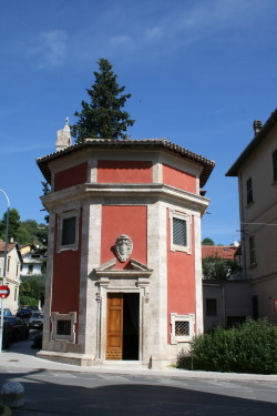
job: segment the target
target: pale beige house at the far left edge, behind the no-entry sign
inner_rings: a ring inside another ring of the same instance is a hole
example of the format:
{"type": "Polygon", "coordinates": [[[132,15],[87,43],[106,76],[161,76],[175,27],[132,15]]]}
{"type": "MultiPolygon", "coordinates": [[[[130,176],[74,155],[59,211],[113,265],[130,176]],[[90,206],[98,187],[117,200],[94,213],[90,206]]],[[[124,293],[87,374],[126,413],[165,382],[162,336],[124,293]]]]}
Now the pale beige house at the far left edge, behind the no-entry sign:
{"type": "MultiPolygon", "coordinates": [[[[8,307],[12,314],[18,310],[20,265],[22,256],[18,243],[9,243],[7,250],[6,284],[10,288],[10,295],[3,301],[3,307],[8,307]]],[[[4,242],[0,241],[0,276],[3,276],[4,242]]]]}

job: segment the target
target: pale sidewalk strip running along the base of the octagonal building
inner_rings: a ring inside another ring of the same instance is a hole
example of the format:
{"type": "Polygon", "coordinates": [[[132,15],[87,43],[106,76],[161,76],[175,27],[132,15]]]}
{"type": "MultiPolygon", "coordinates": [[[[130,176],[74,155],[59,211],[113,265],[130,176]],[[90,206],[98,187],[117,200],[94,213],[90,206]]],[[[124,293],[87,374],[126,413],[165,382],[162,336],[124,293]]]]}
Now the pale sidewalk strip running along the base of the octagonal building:
{"type": "Polygon", "coordinates": [[[191,372],[167,367],[162,369],[150,369],[143,367],[137,362],[111,362],[95,366],[76,366],[61,364],[48,359],[38,358],[37,349],[31,348],[31,341],[23,341],[13,344],[8,351],[0,354],[0,371],[12,373],[25,373],[31,371],[49,372],[76,372],[76,373],[105,373],[105,374],[133,374],[145,376],[163,376],[178,378],[205,378],[222,381],[260,381],[277,383],[277,375],[260,374],[236,374],[236,373],[214,373],[214,372],[191,372]]]}

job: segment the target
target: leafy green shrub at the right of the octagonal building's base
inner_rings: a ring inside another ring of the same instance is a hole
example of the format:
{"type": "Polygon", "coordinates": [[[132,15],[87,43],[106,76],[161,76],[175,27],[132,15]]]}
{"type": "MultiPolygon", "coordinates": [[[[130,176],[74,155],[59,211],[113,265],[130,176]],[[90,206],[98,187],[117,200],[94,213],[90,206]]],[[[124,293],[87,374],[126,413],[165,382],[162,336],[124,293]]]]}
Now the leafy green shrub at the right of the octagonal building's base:
{"type": "Polygon", "coordinates": [[[181,352],[177,368],[208,372],[277,374],[277,327],[267,319],[253,321],[237,328],[196,336],[188,355],[181,352]]]}

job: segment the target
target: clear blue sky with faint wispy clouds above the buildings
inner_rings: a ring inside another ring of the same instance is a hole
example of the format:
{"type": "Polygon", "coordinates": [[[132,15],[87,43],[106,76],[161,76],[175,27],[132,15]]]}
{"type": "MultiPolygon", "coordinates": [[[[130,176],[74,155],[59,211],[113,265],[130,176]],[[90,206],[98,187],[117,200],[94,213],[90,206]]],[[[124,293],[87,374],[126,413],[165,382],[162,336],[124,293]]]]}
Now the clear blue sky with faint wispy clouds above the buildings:
{"type": "MultiPolygon", "coordinates": [[[[216,162],[203,237],[239,240],[237,180],[226,171],[276,108],[275,0],[1,0],[0,189],[43,222],[35,159],[106,58],[132,93],[132,139],[166,138],[216,162]]],[[[6,211],[0,195],[0,216],[6,211]]]]}

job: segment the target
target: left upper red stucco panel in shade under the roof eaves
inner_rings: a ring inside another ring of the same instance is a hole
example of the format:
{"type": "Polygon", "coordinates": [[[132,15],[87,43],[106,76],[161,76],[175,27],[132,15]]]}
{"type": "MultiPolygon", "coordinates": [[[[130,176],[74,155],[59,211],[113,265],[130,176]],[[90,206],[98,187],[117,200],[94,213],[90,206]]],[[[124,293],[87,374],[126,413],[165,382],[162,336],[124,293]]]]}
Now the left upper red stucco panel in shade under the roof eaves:
{"type": "Polygon", "coordinates": [[[54,191],[63,190],[64,187],[79,185],[85,183],[88,176],[88,163],[82,163],[76,166],[65,169],[54,175],[54,191]]]}

